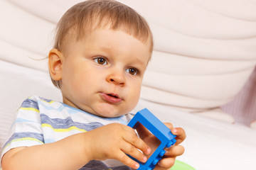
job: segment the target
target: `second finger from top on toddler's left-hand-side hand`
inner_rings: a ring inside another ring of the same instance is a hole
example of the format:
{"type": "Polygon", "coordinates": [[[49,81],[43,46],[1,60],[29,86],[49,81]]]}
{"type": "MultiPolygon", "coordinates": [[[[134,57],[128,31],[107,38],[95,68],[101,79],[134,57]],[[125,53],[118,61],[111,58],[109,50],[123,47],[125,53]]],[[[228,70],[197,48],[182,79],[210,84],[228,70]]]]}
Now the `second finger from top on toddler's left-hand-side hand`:
{"type": "Polygon", "coordinates": [[[129,143],[125,142],[122,145],[121,148],[122,152],[129,154],[129,156],[133,157],[134,159],[137,159],[139,162],[146,162],[146,156],[139,151],[139,149],[137,149],[136,147],[134,147],[133,145],[130,145],[129,143]]]}

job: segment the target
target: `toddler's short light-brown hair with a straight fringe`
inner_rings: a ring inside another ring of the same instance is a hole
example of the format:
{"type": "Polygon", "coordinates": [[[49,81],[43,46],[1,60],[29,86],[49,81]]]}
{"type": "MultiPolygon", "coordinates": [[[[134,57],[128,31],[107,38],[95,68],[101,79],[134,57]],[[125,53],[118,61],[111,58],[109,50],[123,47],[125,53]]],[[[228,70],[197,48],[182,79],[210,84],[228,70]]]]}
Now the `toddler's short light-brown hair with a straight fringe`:
{"type": "MultiPolygon", "coordinates": [[[[65,52],[68,42],[81,40],[85,33],[106,27],[123,30],[142,42],[149,42],[151,54],[153,37],[145,19],[134,9],[114,0],[88,0],[71,7],[58,22],[53,47],[65,52]]],[[[58,81],[52,81],[59,87],[58,81]]]]}

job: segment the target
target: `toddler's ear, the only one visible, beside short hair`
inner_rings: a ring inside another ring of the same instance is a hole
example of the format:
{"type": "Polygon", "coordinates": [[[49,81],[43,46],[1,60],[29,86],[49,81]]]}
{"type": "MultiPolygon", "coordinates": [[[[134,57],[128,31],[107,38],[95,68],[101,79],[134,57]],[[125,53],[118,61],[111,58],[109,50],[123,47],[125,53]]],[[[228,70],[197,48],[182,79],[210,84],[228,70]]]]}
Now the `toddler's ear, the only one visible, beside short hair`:
{"type": "Polygon", "coordinates": [[[50,72],[50,77],[59,81],[62,79],[62,64],[63,64],[63,54],[59,50],[53,48],[50,50],[48,55],[48,67],[50,72]]]}

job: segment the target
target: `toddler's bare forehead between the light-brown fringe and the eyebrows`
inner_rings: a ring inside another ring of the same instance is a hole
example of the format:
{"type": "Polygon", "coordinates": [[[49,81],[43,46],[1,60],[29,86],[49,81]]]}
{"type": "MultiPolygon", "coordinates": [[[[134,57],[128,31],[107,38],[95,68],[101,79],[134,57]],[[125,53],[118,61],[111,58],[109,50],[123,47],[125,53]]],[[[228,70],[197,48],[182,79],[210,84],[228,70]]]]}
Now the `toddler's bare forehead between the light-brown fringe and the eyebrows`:
{"type": "Polygon", "coordinates": [[[143,67],[146,67],[151,56],[149,42],[142,42],[122,30],[106,28],[92,30],[82,40],[70,44],[67,55],[72,56],[72,52],[81,50],[90,57],[114,57],[119,62],[140,64],[143,67]]]}

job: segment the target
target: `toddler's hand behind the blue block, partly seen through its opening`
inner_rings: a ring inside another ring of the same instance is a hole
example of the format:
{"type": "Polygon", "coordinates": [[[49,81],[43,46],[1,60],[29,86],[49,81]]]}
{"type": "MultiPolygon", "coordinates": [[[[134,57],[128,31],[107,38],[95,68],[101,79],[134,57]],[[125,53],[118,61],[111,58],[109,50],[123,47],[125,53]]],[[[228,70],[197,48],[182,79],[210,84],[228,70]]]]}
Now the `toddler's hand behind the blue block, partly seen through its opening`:
{"type": "MultiPolygon", "coordinates": [[[[183,140],[186,138],[186,133],[183,130],[183,128],[173,128],[173,125],[171,123],[164,123],[171,132],[176,135],[176,143],[166,149],[166,153],[164,154],[163,159],[159,161],[159,163],[156,165],[155,169],[170,169],[171,166],[174,166],[174,162],[177,156],[180,156],[184,152],[184,147],[179,145],[183,140]]],[[[146,142],[149,147],[151,147],[152,152],[148,155],[148,157],[153,154],[154,150],[159,147],[160,141],[152,135],[149,130],[144,128],[142,124],[138,125],[137,132],[139,133],[139,136],[146,142]]]]}

